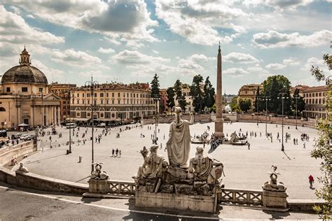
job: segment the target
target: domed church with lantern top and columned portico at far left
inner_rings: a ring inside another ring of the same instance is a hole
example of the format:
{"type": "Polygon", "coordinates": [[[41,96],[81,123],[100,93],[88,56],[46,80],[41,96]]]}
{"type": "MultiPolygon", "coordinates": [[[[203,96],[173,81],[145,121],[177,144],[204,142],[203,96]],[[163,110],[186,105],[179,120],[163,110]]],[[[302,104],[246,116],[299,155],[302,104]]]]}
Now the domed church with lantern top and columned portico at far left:
{"type": "Polygon", "coordinates": [[[1,78],[1,128],[60,124],[60,97],[48,92],[48,80],[41,70],[31,65],[26,48],[20,54],[19,63],[1,78]]]}

